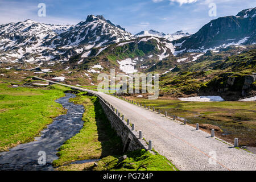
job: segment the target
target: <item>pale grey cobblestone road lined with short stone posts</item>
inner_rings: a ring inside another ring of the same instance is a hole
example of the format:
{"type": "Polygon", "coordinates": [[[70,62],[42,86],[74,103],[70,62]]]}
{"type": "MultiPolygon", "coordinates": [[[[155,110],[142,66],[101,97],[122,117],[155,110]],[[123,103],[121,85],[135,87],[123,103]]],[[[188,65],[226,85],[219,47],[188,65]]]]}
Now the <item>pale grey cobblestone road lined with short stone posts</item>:
{"type": "MultiPolygon", "coordinates": [[[[76,87],[73,87],[76,88],[76,87]]],[[[153,148],[180,170],[256,170],[256,155],[212,138],[208,133],[183,125],[152,110],[144,109],[108,94],[94,92],[113,105],[126,119],[152,140],[153,148]],[[216,156],[216,158],[213,158],[216,156]]]]}

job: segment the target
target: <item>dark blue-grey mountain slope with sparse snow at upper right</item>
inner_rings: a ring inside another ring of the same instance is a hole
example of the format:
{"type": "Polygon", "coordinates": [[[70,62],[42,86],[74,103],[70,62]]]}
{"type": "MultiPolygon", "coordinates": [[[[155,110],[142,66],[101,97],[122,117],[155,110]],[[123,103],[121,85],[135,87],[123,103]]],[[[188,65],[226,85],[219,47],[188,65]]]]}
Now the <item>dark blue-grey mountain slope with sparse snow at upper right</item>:
{"type": "Polygon", "coordinates": [[[181,44],[177,50],[188,52],[203,51],[205,49],[253,44],[256,42],[256,8],[243,10],[237,16],[225,16],[205,24],[196,34],[174,40],[174,44],[181,44]]]}

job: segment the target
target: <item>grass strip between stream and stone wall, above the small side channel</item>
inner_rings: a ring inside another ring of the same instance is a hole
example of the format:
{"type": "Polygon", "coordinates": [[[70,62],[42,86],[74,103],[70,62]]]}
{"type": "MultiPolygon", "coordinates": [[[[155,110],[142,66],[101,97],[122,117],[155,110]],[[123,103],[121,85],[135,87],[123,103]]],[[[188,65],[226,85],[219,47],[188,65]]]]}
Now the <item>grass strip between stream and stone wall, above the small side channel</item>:
{"type": "Polygon", "coordinates": [[[59,167],[75,160],[100,159],[109,155],[122,153],[122,142],[115,134],[108,119],[106,119],[101,105],[96,96],[84,96],[72,98],[75,104],[85,106],[82,117],[84,126],[80,133],[67,140],[60,147],[59,159],[53,161],[53,166],[59,167]]]}

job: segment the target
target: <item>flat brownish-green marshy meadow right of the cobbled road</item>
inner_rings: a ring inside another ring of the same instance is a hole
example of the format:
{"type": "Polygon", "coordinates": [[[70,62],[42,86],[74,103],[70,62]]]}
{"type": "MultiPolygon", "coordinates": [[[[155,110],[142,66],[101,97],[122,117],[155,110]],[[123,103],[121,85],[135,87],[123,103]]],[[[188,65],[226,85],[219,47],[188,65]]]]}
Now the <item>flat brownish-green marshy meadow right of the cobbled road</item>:
{"type": "Polygon", "coordinates": [[[220,127],[218,137],[233,143],[240,139],[240,145],[256,147],[256,107],[255,102],[185,102],[180,100],[147,100],[130,98],[136,102],[154,106],[188,119],[188,123],[209,124],[220,127]]]}

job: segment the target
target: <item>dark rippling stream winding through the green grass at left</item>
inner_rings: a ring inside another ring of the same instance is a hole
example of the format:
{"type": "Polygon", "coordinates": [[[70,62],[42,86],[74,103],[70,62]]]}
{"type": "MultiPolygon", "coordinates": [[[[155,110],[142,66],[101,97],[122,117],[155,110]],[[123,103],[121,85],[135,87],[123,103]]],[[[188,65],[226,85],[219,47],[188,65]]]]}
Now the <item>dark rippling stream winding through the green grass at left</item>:
{"type": "Polygon", "coordinates": [[[69,98],[73,97],[76,97],[75,94],[66,93],[65,97],[55,101],[67,109],[67,114],[55,118],[34,142],[19,144],[10,151],[1,152],[0,170],[53,170],[52,161],[58,159],[57,149],[66,140],[79,133],[84,125],[82,122],[84,106],[69,102],[69,98]]]}

